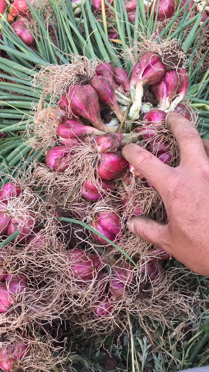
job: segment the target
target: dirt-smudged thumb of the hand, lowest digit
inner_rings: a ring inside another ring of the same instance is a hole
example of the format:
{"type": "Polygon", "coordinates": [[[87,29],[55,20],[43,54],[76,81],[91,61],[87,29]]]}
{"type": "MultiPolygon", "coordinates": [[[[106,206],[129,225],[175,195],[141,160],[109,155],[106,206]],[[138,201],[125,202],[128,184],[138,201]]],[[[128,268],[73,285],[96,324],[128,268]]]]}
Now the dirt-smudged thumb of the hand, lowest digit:
{"type": "Polygon", "coordinates": [[[147,216],[135,216],[127,222],[128,229],[140,238],[163,248],[170,253],[170,239],[168,227],[165,224],[154,221],[147,216]]]}

